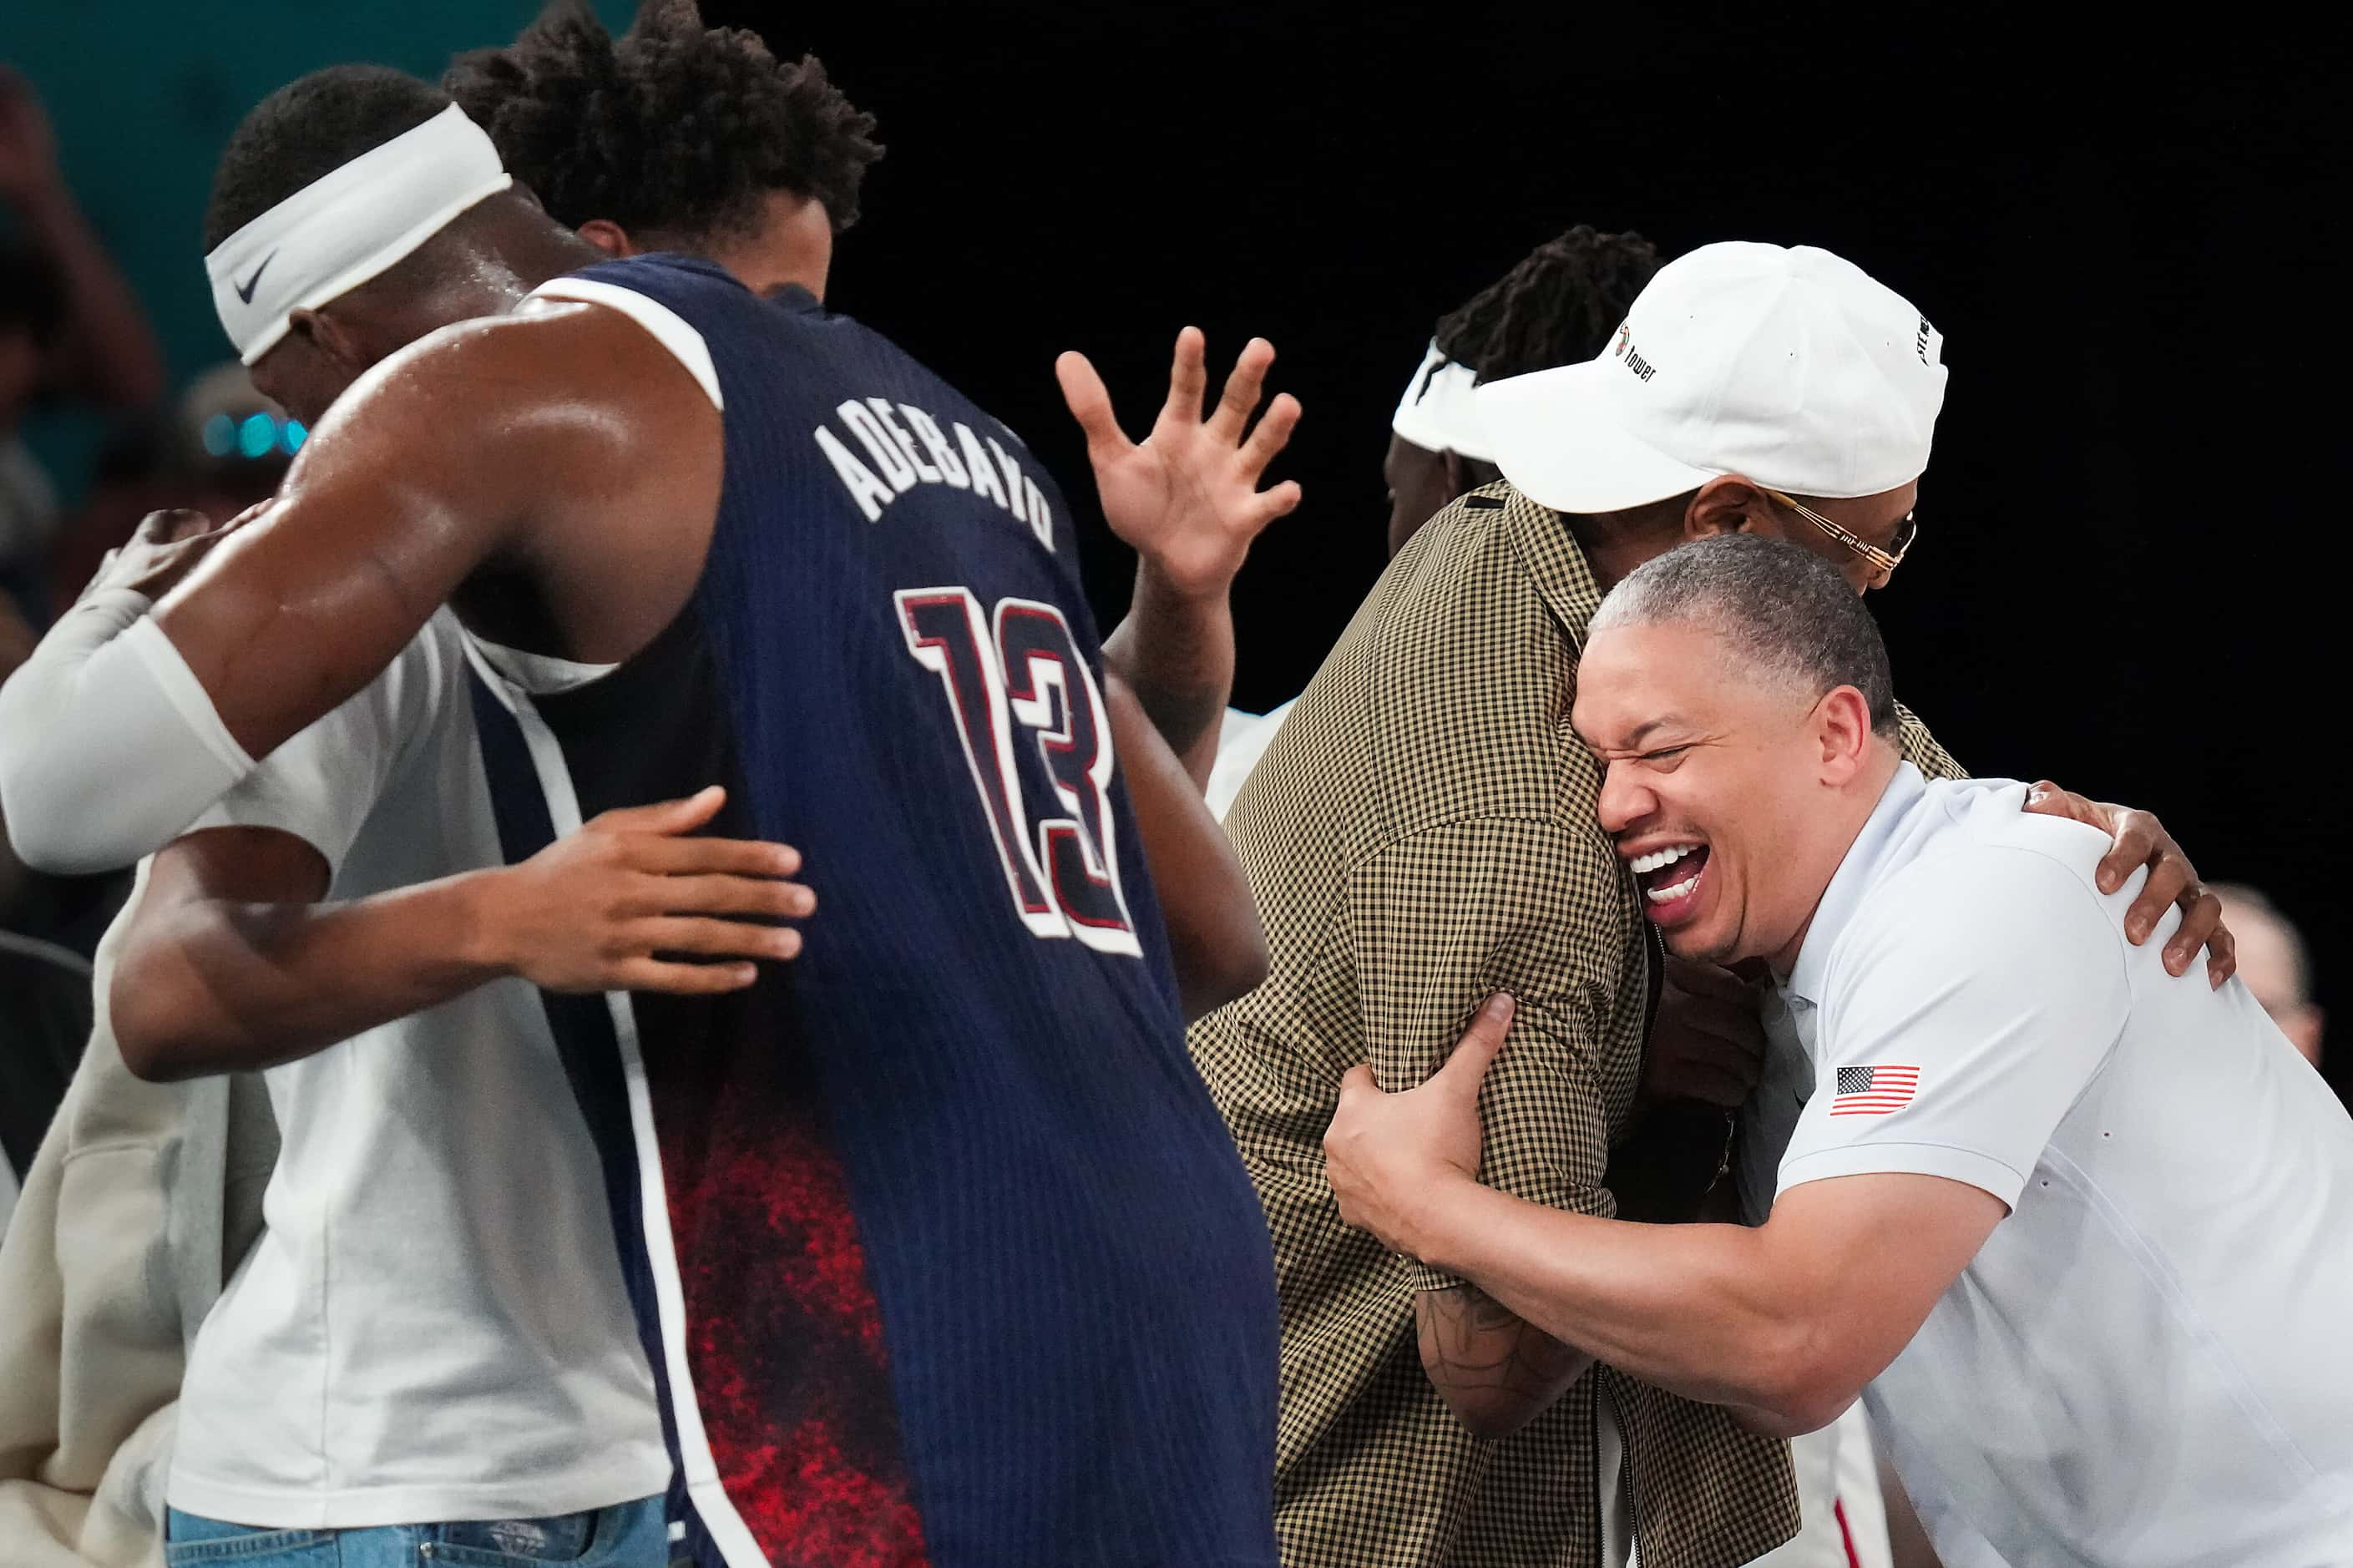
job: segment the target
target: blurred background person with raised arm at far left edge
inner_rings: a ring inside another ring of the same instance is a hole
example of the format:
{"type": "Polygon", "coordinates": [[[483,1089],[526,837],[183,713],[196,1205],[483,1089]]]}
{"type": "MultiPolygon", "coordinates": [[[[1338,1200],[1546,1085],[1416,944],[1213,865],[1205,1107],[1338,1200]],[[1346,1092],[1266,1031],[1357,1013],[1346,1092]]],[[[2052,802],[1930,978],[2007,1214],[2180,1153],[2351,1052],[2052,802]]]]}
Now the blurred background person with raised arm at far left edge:
{"type": "Polygon", "coordinates": [[[0,66],[0,586],[47,619],[42,556],[59,506],[16,431],[42,398],[141,410],[162,398],[162,351],[56,165],[33,85],[0,66]]]}

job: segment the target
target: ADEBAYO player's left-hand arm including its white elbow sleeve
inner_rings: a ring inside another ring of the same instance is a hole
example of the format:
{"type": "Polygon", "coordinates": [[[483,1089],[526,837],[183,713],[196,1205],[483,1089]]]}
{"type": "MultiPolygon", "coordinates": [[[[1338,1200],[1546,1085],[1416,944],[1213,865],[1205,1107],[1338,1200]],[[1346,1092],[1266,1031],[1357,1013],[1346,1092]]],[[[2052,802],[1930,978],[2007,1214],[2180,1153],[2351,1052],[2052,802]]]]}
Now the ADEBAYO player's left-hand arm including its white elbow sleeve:
{"type": "Polygon", "coordinates": [[[78,636],[52,633],[0,692],[0,793],[26,859],[99,869],[160,848],[358,692],[492,556],[555,582],[562,563],[541,549],[553,527],[647,509],[664,487],[673,511],[701,480],[715,494],[718,414],[687,372],[635,325],[572,311],[464,323],[386,360],[235,530],[169,542],[176,530],[158,532],[158,518],[141,525],[59,624],[78,636]],[[52,836],[59,852],[35,857],[28,845],[52,836]]]}

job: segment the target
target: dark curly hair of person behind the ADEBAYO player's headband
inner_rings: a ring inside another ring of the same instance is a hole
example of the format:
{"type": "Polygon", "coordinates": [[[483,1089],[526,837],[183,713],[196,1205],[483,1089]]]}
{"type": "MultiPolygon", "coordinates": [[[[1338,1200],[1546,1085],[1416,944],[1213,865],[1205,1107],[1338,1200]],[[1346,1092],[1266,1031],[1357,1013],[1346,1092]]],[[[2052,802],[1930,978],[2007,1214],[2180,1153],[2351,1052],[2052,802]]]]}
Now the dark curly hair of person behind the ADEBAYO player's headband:
{"type": "Polygon", "coordinates": [[[706,28],[694,0],[645,0],[621,38],[586,0],[553,0],[504,49],[456,57],[442,87],[569,228],[741,235],[760,198],[791,191],[842,231],[882,155],[814,54],[779,61],[744,28],[706,28]]]}

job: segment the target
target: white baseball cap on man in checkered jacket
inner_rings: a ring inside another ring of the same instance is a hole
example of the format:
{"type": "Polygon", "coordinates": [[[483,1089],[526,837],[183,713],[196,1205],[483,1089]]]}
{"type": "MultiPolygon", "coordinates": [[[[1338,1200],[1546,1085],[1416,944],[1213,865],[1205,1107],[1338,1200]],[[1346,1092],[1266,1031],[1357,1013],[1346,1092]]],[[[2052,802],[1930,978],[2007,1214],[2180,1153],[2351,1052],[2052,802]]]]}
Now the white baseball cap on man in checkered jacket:
{"type": "Polygon", "coordinates": [[[1609,348],[1475,393],[1494,461],[1553,511],[1619,511],[1739,473],[1809,497],[1927,469],[1944,334],[1812,245],[1727,240],[1659,268],[1609,348]]]}

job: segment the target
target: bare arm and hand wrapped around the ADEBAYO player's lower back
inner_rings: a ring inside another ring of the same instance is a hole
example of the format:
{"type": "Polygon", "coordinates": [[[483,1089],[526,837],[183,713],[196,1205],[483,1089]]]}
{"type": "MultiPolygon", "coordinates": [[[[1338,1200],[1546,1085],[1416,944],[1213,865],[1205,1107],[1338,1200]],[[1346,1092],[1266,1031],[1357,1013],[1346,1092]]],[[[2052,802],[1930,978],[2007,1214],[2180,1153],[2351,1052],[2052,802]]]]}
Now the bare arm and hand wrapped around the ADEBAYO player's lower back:
{"type": "Polygon", "coordinates": [[[522,975],[555,991],[739,991],[800,951],[760,921],[814,909],[784,845],[687,838],[722,791],[605,812],[518,866],[348,902],[266,826],[165,848],[115,958],[115,1041],[141,1078],[278,1067],[522,975]],[[656,956],[661,954],[661,956],[656,956]],[[680,963],[675,954],[727,958],[680,963]]]}

